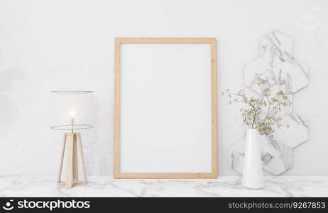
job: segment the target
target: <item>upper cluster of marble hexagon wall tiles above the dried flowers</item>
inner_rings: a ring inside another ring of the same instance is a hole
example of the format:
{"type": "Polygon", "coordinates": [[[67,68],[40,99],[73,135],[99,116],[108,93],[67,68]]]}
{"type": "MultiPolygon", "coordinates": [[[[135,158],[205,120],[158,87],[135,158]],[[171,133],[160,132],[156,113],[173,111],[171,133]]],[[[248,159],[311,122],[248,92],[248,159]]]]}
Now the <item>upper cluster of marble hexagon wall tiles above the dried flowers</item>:
{"type": "Polygon", "coordinates": [[[260,56],[244,67],[245,85],[258,93],[261,93],[256,84],[258,77],[268,79],[274,76],[276,84],[295,93],[307,86],[307,75],[307,66],[293,58],[293,40],[278,31],[261,38],[260,56]]]}

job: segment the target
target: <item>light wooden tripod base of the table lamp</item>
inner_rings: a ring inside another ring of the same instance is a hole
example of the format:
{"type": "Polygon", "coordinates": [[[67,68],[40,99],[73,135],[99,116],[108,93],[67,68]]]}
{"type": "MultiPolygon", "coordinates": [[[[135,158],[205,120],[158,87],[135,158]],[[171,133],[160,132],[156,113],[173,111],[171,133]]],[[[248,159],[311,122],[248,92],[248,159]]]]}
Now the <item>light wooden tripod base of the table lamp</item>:
{"type": "Polygon", "coordinates": [[[58,185],[65,185],[66,188],[71,188],[73,185],[85,185],[87,184],[87,173],[85,171],[84,154],[81,140],[81,133],[72,132],[64,133],[62,141],[62,152],[60,154],[60,165],[58,174],[58,185]],[[77,158],[77,146],[80,148],[80,159],[82,162],[82,174],[84,180],[79,180],[78,173],[78,158],[77,158]],[[61,181],[62,176],[62,163],[64,160],[66,149],[66,181],[61,181]]]}

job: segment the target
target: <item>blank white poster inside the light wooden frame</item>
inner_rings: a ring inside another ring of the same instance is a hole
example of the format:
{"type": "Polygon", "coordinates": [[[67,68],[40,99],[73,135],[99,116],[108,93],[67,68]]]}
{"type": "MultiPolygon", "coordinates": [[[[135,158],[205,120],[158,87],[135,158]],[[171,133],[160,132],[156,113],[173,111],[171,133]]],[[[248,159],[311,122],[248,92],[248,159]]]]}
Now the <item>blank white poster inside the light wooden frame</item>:
{"type": "Polygon", "coordinates": [[[121,173],[212,172],[210,48],[121,44],[121,173]]]}

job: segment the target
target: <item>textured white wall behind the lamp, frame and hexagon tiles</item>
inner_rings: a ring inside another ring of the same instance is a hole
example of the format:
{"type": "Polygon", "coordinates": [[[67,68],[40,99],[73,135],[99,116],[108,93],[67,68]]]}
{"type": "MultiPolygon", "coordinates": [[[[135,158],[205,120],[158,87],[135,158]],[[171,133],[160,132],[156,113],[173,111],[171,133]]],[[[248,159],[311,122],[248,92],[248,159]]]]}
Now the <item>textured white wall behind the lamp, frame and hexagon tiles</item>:
{"type": "MultiPolygon", "coordinates": [[[[328,175],[328,1],[0,1],[0,175],[55,175],[62,132],[49,129],[48,91],[94,90],[95,128],[83,131],[89,174],[113,170],[115,37],[215,37],[219,91],[244,88],[262,35],[294,40],[309,85],[294,94],[310,140],[284,175],[328,175]]],[[[246,89],[249,92],[249,89],[246,89]]],[[[219,175],[244,138],[239,107],[219,99],[219,175]]]]}

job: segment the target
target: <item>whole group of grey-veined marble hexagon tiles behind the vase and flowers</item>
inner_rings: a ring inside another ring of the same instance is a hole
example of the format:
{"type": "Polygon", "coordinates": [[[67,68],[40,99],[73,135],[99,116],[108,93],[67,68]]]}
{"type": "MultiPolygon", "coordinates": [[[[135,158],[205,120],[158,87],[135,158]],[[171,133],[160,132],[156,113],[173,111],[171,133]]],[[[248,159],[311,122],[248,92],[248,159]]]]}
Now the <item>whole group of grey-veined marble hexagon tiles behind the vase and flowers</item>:
{"type": "MultiPolygon", "coordinates": [[[[261,94],[256,84],[258,78],[266,80],[271,91],[280,89],[294,94],[308,84],[308,68],[293,58],[293,40],[278,31],[264,35],[260,40],[260,55],[244,66],[244,83],[261,94]]],[[[293,95],[290,97],[293,103],[293,95]]],[[[273,138],[261,136],[263,169],[273,175],[280,175],[293,167],[293,148],[307,141],[306,122],[291,107],[279,116],[290,129],[277,129],[273,138]]],[[[229,148],[229,166],[242,173],[244,165],[244,139],[229,148]]]]}

